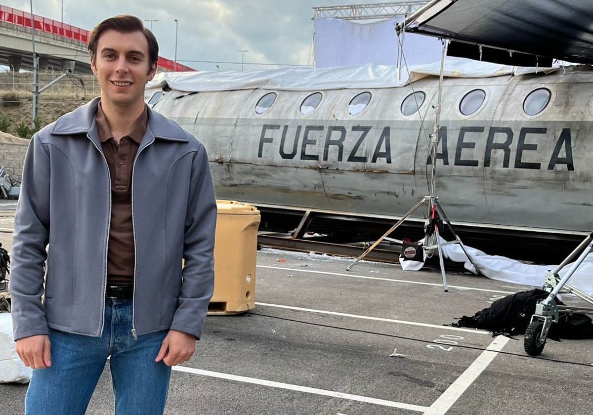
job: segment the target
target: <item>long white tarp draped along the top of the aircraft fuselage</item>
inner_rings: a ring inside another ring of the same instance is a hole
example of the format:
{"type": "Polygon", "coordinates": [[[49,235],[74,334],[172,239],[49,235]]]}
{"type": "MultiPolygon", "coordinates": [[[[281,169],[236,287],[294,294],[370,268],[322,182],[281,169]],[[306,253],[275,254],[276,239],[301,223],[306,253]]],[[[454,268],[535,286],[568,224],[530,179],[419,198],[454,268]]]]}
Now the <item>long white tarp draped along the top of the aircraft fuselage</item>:
{"type": "MultiPolygon", "coordinates": [[[[416,65],[410,69],[412,82],[426,76],[439,75],[441,62],[416,65]]],[[[555,71],[557,68],[516,68],[498,63],[471,59],[445,59],[444,76],[452,78],[489,78],[510,74],[555,71]]],[[[161,72],[146,84],[146,90],[165,85],[177,91],[209,92],[250,90],[322,91],[359,88],[394,88],[408,84],[407,73],[398,75],[396,66],[368,63],[336,68],[291,67],[263,71],[231,72],[161,72]]],[[[147,95],[151,91],[146,92],[147,95]]]]}

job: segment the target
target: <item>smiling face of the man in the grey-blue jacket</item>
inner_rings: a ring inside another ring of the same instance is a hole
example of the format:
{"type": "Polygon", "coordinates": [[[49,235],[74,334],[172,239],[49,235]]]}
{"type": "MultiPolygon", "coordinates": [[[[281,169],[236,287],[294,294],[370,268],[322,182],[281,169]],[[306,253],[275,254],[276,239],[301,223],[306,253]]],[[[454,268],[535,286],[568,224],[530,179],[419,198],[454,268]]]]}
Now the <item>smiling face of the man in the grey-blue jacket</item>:
{"type": "Polygon", "coordinates": [[[97,55],[91,58],[101,100],[117,107],[143,102],[144,85],[157,69],[156,64],[150,67],[148,62],[148,41],[141,31],[104,31],[97,42],[97,55]]]}

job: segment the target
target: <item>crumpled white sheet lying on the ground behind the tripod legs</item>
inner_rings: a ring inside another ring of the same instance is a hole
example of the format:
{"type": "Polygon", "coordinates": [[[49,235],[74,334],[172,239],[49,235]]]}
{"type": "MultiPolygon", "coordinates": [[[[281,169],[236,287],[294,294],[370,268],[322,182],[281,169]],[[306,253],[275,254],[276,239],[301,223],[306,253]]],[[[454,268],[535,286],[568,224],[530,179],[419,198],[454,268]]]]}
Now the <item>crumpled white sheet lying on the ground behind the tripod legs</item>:
{"type": "MultiPolygon", "coordinates": [[[[445,242],[441,238],[441,242],[445,242]]],[[[541,287],[544,285],[544,277],[548,271],[556,269],[556,265],[534,265],[524,264],[520,261],[501,257],[498,255],[488,255],[476,248],[466,245],[468,254],[478,266],[480,273],[488,278],[498,281],[504,281],[514,284],[531,285],[541,287]]],[[[473,266],[468,261],[466,254],[459,244],[445,245],[442,247],[445,258],[455,262],[463,262],[467,270],[472,270],[473,266]]],[[[400,258],[401,260],[401,258],[400,258]]],[[[401,267],[407,271],[417,271],[422,268],[422,263],[417,261],[400,261],[401,267]]],[[[559,272],[562,277],[568,272],[571,264],[566,265],[559,272]]],[[[570,277],[568,284],[582,292],[593,295],[593,254],[589,254],[583,263],[576,269],[570,277]]]]}

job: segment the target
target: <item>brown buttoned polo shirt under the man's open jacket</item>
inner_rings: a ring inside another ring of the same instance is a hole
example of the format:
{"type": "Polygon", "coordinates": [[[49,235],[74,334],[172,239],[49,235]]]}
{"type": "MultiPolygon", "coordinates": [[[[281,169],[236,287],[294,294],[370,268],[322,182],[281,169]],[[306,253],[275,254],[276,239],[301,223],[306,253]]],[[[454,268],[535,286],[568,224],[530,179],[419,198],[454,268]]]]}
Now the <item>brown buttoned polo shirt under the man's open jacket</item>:
{"type": "Polygon", "coordinates": [[[132,131],[113,138],[109,122],[101,108],[95,115],[97,132],[111,176],[111,224],[107,244],[107,285],[131,285],[134,282],[134,231],[132,225],[132,168],[142,137],[146,132],[148,111],[138,117],[132,131]]]}

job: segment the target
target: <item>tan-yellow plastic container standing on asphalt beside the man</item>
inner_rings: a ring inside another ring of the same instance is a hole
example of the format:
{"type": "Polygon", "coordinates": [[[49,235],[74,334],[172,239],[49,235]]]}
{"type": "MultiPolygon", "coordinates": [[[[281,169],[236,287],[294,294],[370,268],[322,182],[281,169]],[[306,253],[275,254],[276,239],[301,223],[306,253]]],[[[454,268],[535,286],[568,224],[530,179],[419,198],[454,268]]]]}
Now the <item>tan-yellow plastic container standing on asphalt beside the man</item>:
{"type": "Polygon", "coordinates": [[[214,293],[208,314],[236,314],[255,307],[257,228],[260,212],[248,203],[216,200],[214,293]]]}

